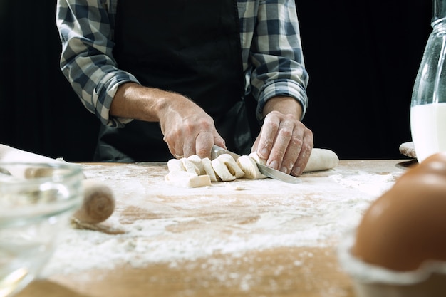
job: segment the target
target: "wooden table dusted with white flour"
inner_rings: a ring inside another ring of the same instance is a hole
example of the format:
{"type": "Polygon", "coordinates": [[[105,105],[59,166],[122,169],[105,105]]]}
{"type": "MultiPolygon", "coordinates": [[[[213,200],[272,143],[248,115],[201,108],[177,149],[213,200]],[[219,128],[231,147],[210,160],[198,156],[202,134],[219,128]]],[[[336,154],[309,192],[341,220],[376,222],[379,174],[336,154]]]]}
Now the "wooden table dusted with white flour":
{"type": "Polygon", "coordinates": [[[17,297],[354,296],[337,243],[411,164],[343,160],[299,184],[238,179],[195,189],[165,184],[165,163],[85,164],[116,195],[105,228],[124,233],[70,229],[17,297]]]}

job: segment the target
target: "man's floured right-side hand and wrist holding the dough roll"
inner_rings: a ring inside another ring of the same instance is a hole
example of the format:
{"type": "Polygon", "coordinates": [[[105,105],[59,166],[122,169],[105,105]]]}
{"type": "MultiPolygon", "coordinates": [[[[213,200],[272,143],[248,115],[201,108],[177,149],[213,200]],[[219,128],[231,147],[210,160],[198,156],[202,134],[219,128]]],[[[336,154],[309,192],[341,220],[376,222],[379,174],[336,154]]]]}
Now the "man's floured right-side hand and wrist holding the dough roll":
{"type": "Polygon", "coordinates": [[[294,98],[271,98],[264,108],[264,124],[252,147],[266,165],[299,176],[313,149],[313,132],[301,121],[301,106],[294,98]]]}

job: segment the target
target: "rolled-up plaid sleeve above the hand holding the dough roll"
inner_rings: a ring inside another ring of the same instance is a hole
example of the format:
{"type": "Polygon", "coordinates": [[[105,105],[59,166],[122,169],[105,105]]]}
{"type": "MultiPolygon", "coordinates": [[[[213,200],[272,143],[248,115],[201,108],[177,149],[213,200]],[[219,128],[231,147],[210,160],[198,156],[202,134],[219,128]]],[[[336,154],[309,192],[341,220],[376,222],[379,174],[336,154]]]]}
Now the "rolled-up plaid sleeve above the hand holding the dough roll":
{"type": "Polygon", "coordinates": [[[294,1],[259,1],[252,38],[249,48],[250,85],[258,101],[257,118],[263,119],[266,101],[279,95],[298,100],[302,105],[303,118],[308,105],[308,73],[294,1]]]}

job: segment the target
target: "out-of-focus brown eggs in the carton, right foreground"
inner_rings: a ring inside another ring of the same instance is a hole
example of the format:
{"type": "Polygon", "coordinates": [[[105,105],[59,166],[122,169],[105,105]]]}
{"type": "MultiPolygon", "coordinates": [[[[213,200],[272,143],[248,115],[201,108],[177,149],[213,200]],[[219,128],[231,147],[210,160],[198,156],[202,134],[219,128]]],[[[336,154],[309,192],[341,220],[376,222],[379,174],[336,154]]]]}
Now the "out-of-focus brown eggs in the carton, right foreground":
{"type": "Polygon", "coordinates": [[[365,212],[353,254],[397,271],[423,261],[446,261],[446,153],[408,172],[365,212]]]}

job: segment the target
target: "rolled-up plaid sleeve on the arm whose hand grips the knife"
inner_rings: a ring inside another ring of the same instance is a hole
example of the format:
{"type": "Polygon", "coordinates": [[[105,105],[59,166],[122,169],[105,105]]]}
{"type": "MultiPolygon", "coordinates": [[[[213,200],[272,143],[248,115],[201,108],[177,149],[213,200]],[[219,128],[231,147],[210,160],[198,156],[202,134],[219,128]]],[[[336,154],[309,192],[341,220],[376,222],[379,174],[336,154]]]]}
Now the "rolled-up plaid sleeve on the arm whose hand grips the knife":
{"type": "Polygon", "coordinates": [[[61,42],[61,71],[81,102],[103,125],[123,127],[131,119],[110,117],[118,86],[138,80],[118,69],[113,58],[110,14],[100,0],[58,0],[56,24],[61,42]]]}

